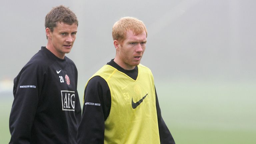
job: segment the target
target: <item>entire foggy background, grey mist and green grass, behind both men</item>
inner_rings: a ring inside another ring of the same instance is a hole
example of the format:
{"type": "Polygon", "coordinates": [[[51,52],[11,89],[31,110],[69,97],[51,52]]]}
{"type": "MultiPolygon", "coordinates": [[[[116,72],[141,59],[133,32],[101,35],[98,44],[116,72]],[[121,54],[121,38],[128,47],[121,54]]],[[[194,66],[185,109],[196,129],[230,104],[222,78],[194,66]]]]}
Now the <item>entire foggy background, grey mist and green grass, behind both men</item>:
{"type": "Polygon", "coordinates": [[[13,79],[46,45],[45,16],[61,4],[79,20],[66,56],[78,69],[81,102],[87,80],[115,57],[113,24],[132,16],[147,27],[141,63],[153,72],[162,116],[176,143],[255,143],[254,0],[1,1],[4,143],[10,139],[13,79]]]}

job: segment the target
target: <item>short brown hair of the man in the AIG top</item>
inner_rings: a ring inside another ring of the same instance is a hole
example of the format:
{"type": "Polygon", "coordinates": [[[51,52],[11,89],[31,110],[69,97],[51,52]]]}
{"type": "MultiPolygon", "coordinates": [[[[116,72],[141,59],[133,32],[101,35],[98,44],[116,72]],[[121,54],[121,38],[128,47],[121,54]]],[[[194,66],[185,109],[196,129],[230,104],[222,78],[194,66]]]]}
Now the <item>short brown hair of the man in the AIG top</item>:
{"type": "Polygon", "coordinates": [[[57,22],[64,22],[69,25],[75,23],[78,26],[78,20],[75,13],[63,5],[52,8],[52,10],[46,15],[44,24],[45,29],[49,28],[53,31],[57,22]]]}

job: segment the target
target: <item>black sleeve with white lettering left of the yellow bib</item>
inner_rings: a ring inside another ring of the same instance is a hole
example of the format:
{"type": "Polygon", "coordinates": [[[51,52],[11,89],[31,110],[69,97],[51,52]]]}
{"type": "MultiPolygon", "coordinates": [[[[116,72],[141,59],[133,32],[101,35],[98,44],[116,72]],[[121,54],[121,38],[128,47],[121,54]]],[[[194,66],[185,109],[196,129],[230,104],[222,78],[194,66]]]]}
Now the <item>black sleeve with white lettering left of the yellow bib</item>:
{"type": "Polygon", "coordinates": [[[78,144],[104,144],[105,120],[111,107],[107,82],[100,76],[93,77],[84,91],[82,120],[78,128],[78,144]]]}

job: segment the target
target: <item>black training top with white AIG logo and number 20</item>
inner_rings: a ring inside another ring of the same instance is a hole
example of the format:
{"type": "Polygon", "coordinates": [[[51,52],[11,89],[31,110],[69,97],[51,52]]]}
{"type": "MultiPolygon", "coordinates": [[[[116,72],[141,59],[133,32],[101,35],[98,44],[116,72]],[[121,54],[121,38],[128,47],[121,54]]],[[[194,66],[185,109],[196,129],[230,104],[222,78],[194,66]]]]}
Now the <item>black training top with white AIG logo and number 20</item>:
{"type": "Polygon", "coordinates": [[[14,79],[10,144],[76,144],[81,120],[77,68],[46,47],[14,79]]]}

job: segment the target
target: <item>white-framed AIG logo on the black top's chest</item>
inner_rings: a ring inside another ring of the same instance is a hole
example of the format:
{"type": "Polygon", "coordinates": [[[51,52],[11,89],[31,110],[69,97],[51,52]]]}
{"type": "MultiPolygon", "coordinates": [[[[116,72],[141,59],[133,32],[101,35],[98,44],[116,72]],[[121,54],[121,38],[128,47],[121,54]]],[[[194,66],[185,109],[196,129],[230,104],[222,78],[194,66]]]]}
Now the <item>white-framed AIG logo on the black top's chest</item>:
{"type": "Polygon", "coordinates": [[[61,91],[62,110],[75,111],[75,92],[61,91]]]}

